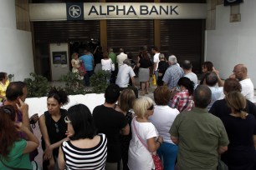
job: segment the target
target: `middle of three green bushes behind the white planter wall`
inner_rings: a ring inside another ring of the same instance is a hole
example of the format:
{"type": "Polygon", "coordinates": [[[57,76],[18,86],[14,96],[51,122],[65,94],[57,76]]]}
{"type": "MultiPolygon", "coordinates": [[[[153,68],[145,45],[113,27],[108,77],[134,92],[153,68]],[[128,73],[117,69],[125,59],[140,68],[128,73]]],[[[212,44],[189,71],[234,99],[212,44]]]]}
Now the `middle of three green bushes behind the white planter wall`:
{"type": "Polygon", "coordinates": [[[79,80],[78,72],[68,72],[60,77],[60,81],[65,82],[64,91],[69,95],[86,93],[83,80],[79,80]]]}

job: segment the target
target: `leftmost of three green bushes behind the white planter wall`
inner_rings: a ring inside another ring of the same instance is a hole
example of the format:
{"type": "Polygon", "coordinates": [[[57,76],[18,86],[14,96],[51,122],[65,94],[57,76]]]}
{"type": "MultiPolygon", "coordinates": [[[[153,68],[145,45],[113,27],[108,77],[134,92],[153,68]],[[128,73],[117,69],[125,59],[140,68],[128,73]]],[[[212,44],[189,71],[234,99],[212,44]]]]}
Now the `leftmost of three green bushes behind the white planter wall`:
{"type": "Polygon", "coordinates": [[[46,77],[37,75],[34,72],[29,74],[33,78],[25,78],[24,82],[27,83],[28,97],[44,97],[49,92],[49,82],[46,77]]]}

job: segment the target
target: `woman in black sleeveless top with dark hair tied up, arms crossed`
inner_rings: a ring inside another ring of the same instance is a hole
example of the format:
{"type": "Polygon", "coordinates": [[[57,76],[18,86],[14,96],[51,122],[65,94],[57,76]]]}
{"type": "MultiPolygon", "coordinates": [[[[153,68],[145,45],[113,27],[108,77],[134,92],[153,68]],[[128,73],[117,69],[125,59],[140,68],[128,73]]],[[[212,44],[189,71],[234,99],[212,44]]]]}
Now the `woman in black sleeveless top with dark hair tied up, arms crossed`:
{"type": "Polygon", "coordinates": [[[48,111],[39,117],[39,127],[42,133],[42,148],[44,150],[43,168],[56,169],[57,158],[59,155],[59,146],[66,138],[67,124],[64,117],[67,116],[67,110],[60,108],[69,102],[67,93],[53,88],[47,97],[48,111]]]}

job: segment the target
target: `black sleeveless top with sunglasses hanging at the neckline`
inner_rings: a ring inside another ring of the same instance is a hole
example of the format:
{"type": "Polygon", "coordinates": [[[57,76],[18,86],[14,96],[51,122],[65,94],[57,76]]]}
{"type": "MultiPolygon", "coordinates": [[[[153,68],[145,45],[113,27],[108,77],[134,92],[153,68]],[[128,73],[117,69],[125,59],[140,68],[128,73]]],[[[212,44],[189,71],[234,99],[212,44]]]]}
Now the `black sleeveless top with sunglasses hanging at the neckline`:
{"type": "MultiPolygon", "coordinates": [[[[51,144],[57,143],[60,140],[66,138],[66,130],[67,130],[67,124],[64,121],[64,117],[67,115],[67,110],[60,108],[61,116],[59,118],[58,122],[55,122],[54,119],[51,117],[51,114],[49,111],[44,112],[45,117],[45,125],[47,128],[47,132],[49,135],[49,141],[51,144]]],[[[45,150],[45,142],[44,138],[42,137],[42,148],[45,150]]],[[[53,151],[54,156],[58,157],[59,155],[59,148],[55,148],[53,151]]]]}

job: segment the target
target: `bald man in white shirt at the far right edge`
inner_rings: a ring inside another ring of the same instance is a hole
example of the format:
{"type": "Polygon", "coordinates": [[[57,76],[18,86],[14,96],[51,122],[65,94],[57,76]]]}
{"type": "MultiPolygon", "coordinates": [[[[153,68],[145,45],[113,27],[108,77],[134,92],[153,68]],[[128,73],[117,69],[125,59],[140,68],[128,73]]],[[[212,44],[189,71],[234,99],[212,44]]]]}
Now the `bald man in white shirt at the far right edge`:
{"type": "Polygon", "coordinates": [[[236,78],[240,82],[242,86],[242,94],[249,101],[253,101],[254,96],[254,87],[253,82],[247,75],[247,67],[244,64],[238,64],[233,67],[233,74],[230,76],[231,78],[236,78]]]}

